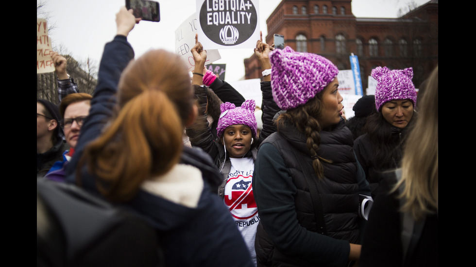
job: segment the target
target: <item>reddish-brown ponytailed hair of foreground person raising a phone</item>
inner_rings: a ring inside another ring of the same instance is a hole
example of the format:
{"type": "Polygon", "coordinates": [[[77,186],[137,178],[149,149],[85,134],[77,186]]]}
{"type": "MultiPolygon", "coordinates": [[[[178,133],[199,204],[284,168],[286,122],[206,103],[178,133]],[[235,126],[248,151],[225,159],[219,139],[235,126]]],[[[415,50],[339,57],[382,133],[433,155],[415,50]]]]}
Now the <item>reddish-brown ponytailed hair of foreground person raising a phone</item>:
{"type": "Polygon", "coordinates": [[[106,198],[125,202],[144,180],[169,172],[180,159],[194,104],[187,68],[173,53],[149,51],[123,71],[118,100],[117,116],[87,145],[80,163],[106,198]]]}

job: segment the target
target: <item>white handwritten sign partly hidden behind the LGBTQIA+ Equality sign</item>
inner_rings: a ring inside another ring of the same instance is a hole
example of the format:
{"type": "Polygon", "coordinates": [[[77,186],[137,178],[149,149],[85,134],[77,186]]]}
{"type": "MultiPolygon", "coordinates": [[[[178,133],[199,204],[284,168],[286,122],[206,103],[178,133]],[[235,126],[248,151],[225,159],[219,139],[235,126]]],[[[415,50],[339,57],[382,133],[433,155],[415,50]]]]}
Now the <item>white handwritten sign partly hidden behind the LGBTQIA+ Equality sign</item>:
{"type": "MultiPolygon", "coordinates": [[[[195,61],[193,60],[192,52],[190,51],[193,46],[195,46],[195,33],[197,33],[197,18],[196,14],[189,16],[178,28],[175,30],[175,51],[183,59],[185,65],[189,71],[193,70],[195,66],[195,61]]],[[[202,38],[199,33],[198,41],[202,43],[202,38]]],[[[202,43],[204,49],[206,50],[206,64],[210,64],[214,61],[221,59],[220,52],[216,49],[207,49],[206,46],[202,43]]]]}

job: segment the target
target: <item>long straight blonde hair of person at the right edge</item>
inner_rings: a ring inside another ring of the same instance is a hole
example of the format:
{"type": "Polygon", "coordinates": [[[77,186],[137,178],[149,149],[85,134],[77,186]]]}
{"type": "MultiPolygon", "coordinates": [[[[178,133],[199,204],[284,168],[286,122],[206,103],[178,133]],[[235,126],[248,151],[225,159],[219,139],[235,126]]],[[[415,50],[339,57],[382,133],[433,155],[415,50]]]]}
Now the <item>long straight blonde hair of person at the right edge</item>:
{"type": "Polygon", "coordinates": [[[438,212],[438,66],[426,85],[415,127],[408,136],[402,159],[402,212],[415,220],[438,212]]]}

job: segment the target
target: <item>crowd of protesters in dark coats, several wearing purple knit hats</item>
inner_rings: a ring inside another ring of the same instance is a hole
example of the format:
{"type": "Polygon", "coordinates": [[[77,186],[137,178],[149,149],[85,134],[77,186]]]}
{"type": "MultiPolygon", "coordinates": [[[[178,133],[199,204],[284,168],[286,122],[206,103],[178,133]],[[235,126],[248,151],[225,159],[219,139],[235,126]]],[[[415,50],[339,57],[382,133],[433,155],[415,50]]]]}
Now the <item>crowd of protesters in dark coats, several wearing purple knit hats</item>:
{"type": "Polygon", "coordinates": [[[412,68],[375,68],[346,120],[323,56],[257,40],[255,103],[205,68],[198,35],[191,78],[174,53],[135,58],[139,21],[117,13],[92,96],[51,54],[60,105],[36,101],[37,179],[147,220],[163,266],[438,266],[438,67],[419,112],[412,68]]]}

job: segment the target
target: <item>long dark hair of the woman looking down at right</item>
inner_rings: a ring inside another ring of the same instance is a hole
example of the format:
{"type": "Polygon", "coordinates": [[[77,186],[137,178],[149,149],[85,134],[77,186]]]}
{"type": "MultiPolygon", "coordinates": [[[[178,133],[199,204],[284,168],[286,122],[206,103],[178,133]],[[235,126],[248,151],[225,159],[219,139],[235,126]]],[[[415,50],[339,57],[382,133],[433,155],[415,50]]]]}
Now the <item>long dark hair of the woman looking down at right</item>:
{"type": "Polygon", "coordinates": [[[403,129],[391,126],[383,117],[382,111],[367,117],[364,131],[372,144],[374,164],[377,170],[398,168],[402,159],[403,144],[416,116],[417,113],[413,111],[410,122],[403,129]]]}

